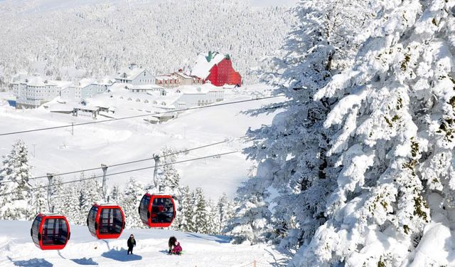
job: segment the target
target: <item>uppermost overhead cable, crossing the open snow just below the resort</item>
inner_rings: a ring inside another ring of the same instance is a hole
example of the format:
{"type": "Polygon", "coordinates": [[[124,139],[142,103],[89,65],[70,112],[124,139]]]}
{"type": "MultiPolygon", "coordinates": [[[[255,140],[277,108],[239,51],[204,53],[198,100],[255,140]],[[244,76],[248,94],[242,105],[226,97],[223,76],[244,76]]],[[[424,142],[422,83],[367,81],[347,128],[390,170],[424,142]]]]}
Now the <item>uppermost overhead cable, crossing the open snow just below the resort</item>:
{"type": "Polygon", "coordinates": [[[45,130],[55,130],[55,129],[61,129],[61,128],[81,126],[81,125],[91,125],[91,124],[95,124],[95,123],[112,122],[114,120],[127,120],[127,119],[136,118],[136,117],[147,117],[147,116],[153,116],[153,115],[166,114],[166,113],[170,113],[170,112],[181,112],[181,111],[183,112],[183,111],[187,111],[187,110],[199,110],[199,109],[202,109],[202,108],[213,108],[213,107],[218,107],[218,106],[221,106],[221,105],[232,105],[232,104],[246,103],[246,102],[257,101],[257,100],[264,100],[264,99],[269,99],[269,98],[279,98],[279,97],[282,97],[282,96],[284,96],[284,95],[273,95],[273,96],[267,96],[267,97],[264,97],[264,98],[253,98],[253,99],[239,100],[239,101],[233,101],[233,102],[228,102],[228,103],[218,103],[218,104],[213,104],[213,105],[203,105],[203,106],[192,107],[192,108],[182,108],[180,110],[169,110],[169,111],[163,111],[163,112],[156,112],[154,114],[144,114],[144,115],[134,115],[134,116],[128,116],[128,117],[119,117],[119,118],[100,120],[100,121],[95,121],[95,122],[80,122],[80,123],[72,123],[70,125],[60,125],[60,126],[54,126],[54,127],[36,128],[36,129],[22,130],[22,131],[17,131],[17,132],[3,132],[3,133],[0,133],[0,136],[18,135],[18,134],[22,134],[22,133],[38,132],[38,131],[45,131],[45,130]]]}

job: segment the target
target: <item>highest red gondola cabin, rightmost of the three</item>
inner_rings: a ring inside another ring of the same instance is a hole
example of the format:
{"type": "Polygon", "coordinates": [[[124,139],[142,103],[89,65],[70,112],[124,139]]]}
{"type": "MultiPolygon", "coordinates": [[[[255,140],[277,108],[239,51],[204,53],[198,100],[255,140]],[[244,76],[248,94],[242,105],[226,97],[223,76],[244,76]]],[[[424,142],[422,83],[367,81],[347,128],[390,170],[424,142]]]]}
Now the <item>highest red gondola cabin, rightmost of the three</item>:
{"type": "Polygon", "coordinates": [[[146,226],[168,227],[176,217],[176,204],[169,195],[144,194],[139,204],[139,216],[146,226]]]}

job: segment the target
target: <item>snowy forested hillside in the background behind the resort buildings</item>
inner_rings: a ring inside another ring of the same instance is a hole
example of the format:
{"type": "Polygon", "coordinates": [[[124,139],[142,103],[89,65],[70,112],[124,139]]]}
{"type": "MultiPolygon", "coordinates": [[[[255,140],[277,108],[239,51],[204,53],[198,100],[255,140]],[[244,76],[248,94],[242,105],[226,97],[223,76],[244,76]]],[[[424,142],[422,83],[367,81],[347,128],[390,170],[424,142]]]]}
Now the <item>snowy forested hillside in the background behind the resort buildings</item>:
{"type": "Polygon", "coordinates": [[[208,51],[229,53],[251,82],[252,68],[279,48],[294,20],[289,7],[237,0],[94,3],[0,1],[0,83],[20,72],[112,75],[129,63],[166,74],[189,70],[208,51]]]}

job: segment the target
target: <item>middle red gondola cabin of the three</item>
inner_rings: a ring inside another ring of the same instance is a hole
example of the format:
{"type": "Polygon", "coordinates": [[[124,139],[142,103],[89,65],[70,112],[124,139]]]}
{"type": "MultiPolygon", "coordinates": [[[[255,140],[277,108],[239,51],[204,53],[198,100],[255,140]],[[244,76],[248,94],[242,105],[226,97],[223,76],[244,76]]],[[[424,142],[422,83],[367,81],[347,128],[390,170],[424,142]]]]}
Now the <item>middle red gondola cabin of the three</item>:
{"type": "Polygon", "coordinates": [[[125,228],[122,208],[114,204],[93,204],[87,216],[87,226],[97,239],[117,239],[125,228]]]}

